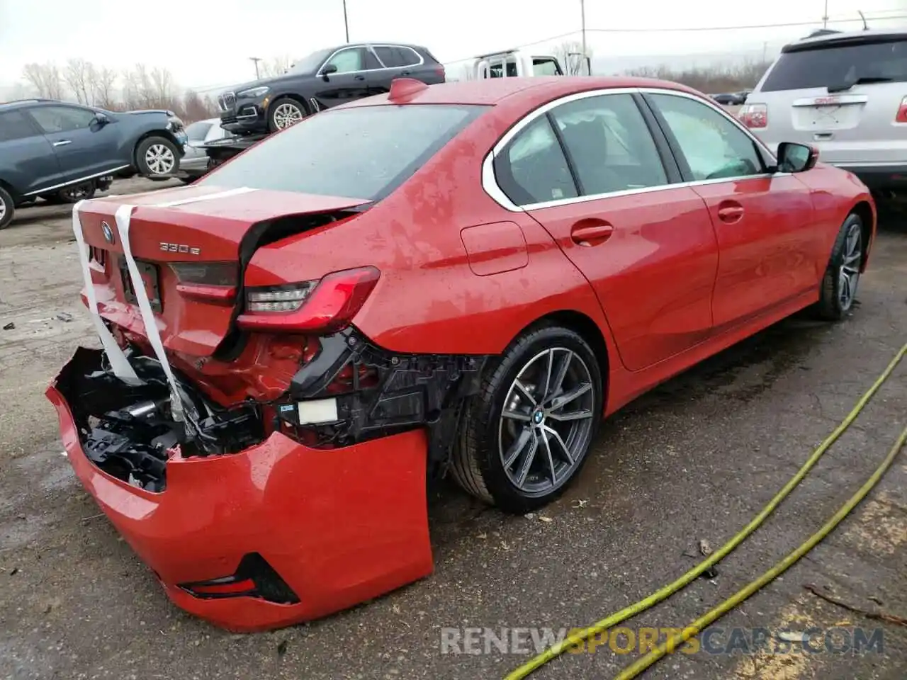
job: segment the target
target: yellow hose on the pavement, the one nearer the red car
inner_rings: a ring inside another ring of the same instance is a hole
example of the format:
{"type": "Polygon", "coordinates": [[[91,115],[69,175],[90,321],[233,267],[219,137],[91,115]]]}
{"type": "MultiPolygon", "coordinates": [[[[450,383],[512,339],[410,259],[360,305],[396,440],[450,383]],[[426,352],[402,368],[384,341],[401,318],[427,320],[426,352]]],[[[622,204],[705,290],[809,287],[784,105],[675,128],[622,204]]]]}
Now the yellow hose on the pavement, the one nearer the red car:
{"type": "Polygon", "coordinates": [[[796,474],[787,481],[787,483],[782,487],[781,491],[778,491],[775,494],[775,497],[772,500],[769,500],[766,504],[766,507],[759,511],[759,514],[756,515],[750,522],[741,529],[736,536],[728,540],[721,548],[717,549],[712,555],[707,559],[704,559],[696,567],[691,568],[683,576],[675,580],[673,583],[668,584],[664,588],[660,588],[656,592],[649,595],[649,597],[644,597],[635,604],[629,605],[629,607],[624,607],[618,612],[611,614],[609,617],[601,619],[599,622],[592,624],[590,627],[586,627],[577,631],[569,636],[564,637],[561,642],[550,646],[548,649],[543,651],[538,656],[533,656],[532,659],[527,661],[525,664],[514,669],[510,674],[506,675],[504,680],[522,680],[522,678],[530,675],[532,671],[537,670],[542,665],[547,664],[551,659],[560,656],[565,651],[570,649],[573,646],[577,646],[582,643],[584,640],[589,639],[592,636],[600,634],[602,631],[609,629],[610,627],[616,626],[621,621],[626,621],[630,617],[635,617],[636,615],[646,611],[647,609],[654,607],[659,602],[667,599],[668,597],[674,595],[681,588],[686,587],[690,582],[695,580],[702,574],[707,568],[712,567],[717,564],[721,559],[727,557],[727,555],[740,543],[742,543],[746,537],[748,537],[753,531],[759,528],[759,526],[766,520],[766,518],[775,511],[775,508],[781,504],[782,500],[790,494],[791,491],[794,491],[797,484],[803,481],[803,478],[806,476],[806,473],[813,469],[816,462],[822,457],[824,452],[844,433],[844,431],[850,427],[851,423],[856,420],[857,415],[863,411],[863,408],[869,403],[869,400],[873,398],[873,395],[879,391],[879,388],[882,387],[883,383],[888,379],[892,374],[892,371],[900,363],[903,355],[907,354],[907,344],[901,347],[901,350],[894,355],[892,361],[885,367],[883,373],[876,379],[873,383],[873,386],[870,387],[866,393],[860,397],[860,401],[853,406],[853,409],[848,413],[844,420],[834,429],[834,432],[828,435],[825,438],[825,441],[819,444],[819,447],[813,452],[813,454],[805,461],[803,466],[796,472],[796,474]]]}

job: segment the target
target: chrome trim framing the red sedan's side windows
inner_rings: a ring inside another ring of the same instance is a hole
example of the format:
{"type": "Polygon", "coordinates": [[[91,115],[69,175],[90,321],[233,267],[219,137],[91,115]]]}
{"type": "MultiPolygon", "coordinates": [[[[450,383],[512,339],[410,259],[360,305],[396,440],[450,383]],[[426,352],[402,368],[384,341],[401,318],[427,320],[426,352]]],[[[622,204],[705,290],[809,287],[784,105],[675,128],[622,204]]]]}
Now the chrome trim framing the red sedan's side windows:
{"type": "Polygon", "coordinates": [[[485,156],[482,163],[482,188],[485,193],[493,199],[495,203],[500,205],[503,209],[510,212],[526,212],[528,210],[537,210],[541,208],[557,208],[559,206],[567,206],[573,203],[585,203],[590,200],[600,200],[608,199],[612,197],[619,196],[633,196],[640,193],[650,193],[652,191],[665,191],[668,189],[678,189],[683,187],[698,187],[705,186],[708,184],[719,184],[721,182],[728,181],[740,181],[740,180],[764,180],[770,177],[786,177],[790,175],[790,172],[764,172],[758,175],[736,175],[734,177],[722,177],[717,180],[694,180],[688,182],[676,182],[674,184],[659,184],[657,187],[641,187],[639,189],[622,189],[620,191],[609,191],[607,193],[601,194],[590,194],[589,196],[577,196],[570,199],[553,199],[540,201],[538,203],[530,203],[525,206],[518,206],[511,199],[507,198],[507,195],[504,194],[500,186],[498,186],[497,178],[494,176],[494,158],[503,151],[503,148],[518,135],[523,128],[530,125],[535,119],[543,116],[551,111],[551,109],[561,106],[561,104],[566,104],[570,102],[577,102],[583,99],[589,99],[590,97],[599,97],[601,95],[607,94],[668,94],[678,97],[684,97],[686,99],[691,99],[694,102],[700,102],[713,111],[716,111],[723,115],[728,121],[731,121],[738,130],[742,131],[746,136],[756,143],[759,149],[765,151],[769,159],[776,161],[775,154],[769,151],[766,144],[759,140],[756,135],[746,128],[742,122],[737,121],[734,116],[724,110],[720,105],[714,104],[712,102],[707,102],[702,97],[698,97],[695,94],[690,94],[689,92],[680,92],[678,90],[670,90],[667,88],[660,87],[612,87],[612,88],[600,88],[598,90],[590,90],[587,92],[574,92],[573,94],[567,94],[563,97],[555,99],[551,102],[542,104],[537,109],[533,109],[532,112],[527,113],[525,116],[517,121],[510,130],[506,131],[500,140],[498,140],[492,147],[492,151],[489,151],[485,156]]]}

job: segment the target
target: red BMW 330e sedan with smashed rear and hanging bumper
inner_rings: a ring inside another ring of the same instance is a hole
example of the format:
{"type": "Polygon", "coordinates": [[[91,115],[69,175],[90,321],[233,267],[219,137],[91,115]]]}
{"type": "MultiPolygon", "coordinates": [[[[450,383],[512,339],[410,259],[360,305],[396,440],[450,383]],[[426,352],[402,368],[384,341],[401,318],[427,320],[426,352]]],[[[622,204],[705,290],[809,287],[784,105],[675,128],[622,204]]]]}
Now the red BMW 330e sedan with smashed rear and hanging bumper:
{"type": "Polygon", "coordinates": [[[177,605],[285,626],[432,571],[427,474],[540,507],[640,393],[840,319],[874,231],[852,174],[677,84],[403,79],[190,187],[77,204],[101,349],[47,395],[177,605]]]}

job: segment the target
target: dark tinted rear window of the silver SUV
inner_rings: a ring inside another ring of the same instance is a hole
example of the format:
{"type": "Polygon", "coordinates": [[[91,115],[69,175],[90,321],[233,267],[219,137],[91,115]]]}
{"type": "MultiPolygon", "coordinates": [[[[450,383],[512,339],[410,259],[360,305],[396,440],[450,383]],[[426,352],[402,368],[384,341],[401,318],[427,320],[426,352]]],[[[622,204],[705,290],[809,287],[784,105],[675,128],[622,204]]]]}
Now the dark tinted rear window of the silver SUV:
{"type": "Polygon", "coordinates": [[[907,82],[907,40],[834,45],[778,57],[762,92],[855,83],[860,78],[907,82]]]}

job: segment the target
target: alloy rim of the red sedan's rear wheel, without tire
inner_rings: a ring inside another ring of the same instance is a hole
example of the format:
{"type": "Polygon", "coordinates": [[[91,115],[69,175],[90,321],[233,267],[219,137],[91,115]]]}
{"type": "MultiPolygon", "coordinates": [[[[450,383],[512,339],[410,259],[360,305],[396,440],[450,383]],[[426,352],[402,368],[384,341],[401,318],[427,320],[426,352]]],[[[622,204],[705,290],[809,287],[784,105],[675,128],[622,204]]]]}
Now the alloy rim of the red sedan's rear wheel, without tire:
{"type": "Polygon", "coordinates": [[[595,393],[589,366],[566,347],[532,357],[504,399],[498,449],[522,493],[541,496],[568,481],[589,448],[595,393]]]}

